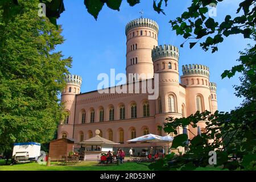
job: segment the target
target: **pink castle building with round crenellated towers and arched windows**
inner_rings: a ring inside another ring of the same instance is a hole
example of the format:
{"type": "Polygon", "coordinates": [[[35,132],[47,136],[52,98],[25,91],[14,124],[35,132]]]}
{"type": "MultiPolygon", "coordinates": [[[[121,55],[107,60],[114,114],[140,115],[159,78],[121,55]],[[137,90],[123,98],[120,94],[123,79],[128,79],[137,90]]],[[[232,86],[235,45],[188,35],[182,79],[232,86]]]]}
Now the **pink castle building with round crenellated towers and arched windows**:
{"type": "MultiPolygon", "coordinates": [[[[141,152],[150,144],[127,140],[150,133],[166,135],[158,126],[163,126],[167,117],[181,118],[197,110],[212,113],[217,110],[216,84],[209,81],[209,68],[201,64],[183,65],[180,76],[179,49],[158,46],[158,31],[158,24],[147,18],[132,20],[125,28],[127,85],[133,85],[134,91],[135,84],[139,84],[137,91],[142,91],[146,88],[139,75],[145,74],[146,80],[157,78],[159,96],[148,100],[149,93],[143,92],[80,93],[82,78],[67,75],[67,87],[61,93],[67,114],[58,127],[58,138],[70,138],[78,143],[94,137],[98,129],[101,137],[120,143],[114,147],[126,152],[133,147],[135,152],[141,152]],[[154,77],[156,73],[158,77],[154,77]]],[[[204,132],[205,122],[199,122],[199,126],[204,132]]],[[[188,137],[192,138],[197,129],[188,127],[192,131],[188,137]]],[[[183,129],[178,128],[177,132],[181,134],[183,129]]],[[[162,147],[164,143],[152,143],[152,146],[162,147]]]]}

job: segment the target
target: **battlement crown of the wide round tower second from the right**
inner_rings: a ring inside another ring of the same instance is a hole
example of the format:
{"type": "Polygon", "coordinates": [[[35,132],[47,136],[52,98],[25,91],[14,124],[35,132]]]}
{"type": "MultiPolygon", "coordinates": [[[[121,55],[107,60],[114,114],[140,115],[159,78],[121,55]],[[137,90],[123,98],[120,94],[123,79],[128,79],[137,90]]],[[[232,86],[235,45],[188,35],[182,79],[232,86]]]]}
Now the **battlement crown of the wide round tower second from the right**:
{"type": "Polygon", "coordinates": [[[203,75],[208,78],[210,76],[209,68],[201,64],[183,65],[182,72],[183,72],[183,76],[203,75]]]}

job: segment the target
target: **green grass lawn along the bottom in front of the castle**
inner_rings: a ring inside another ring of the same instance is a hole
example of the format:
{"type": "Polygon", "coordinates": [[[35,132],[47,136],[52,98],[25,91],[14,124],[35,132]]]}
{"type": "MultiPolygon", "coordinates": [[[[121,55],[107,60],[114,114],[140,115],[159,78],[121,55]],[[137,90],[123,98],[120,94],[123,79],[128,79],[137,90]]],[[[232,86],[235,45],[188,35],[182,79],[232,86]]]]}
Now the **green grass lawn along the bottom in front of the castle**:
{"type": "MultiPolygon", "coordinates": [[[[0,162],[3,164],[3,161],[0,162]]],[[[35,162],[26,164],[15,164],[13,166],[0,166],[0,171],[150,171],[147,165],[150,163],[137,164],[125,162],[114,166],[96,166],[97,162],[81,162],[73,166],[60,166],[57,162],[52,162],[51,166],[40,165],[35,162]]],[[[220,168],[207,167],[197,168],[197,171],[220,170],[220,168]]]]}

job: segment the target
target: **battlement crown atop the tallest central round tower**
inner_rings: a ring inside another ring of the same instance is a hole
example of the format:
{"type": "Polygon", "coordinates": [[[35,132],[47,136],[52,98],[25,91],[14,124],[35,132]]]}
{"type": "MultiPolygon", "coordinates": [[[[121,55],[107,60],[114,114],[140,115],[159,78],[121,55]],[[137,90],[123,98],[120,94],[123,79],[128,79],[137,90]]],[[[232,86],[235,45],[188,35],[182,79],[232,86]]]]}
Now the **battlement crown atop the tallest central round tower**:
{"type": "Polygon", "coordinates": [[[149,27],[154,29],[157,33],[159,31],[158,23],[156,23],[154,20],[148,18],[138,18],[131,20],[129,23],[126,24],[125,34],[127,35],[129,30],[137,27],[149,27]]]}

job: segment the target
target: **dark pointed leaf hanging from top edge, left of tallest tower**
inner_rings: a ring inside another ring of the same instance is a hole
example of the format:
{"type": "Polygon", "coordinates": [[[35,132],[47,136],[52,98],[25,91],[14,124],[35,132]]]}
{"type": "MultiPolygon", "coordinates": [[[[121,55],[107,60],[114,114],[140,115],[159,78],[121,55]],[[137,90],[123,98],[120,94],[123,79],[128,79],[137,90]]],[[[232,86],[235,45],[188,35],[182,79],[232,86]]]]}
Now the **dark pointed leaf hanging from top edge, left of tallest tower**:
{"type": "Polygon", "coordinates": [[[98,13],[100,13],[102,7],[105,2],[101,0],[84,0],[84,4],[89,14],[93,15],[93,17],[97,20],[98,13]]]}

